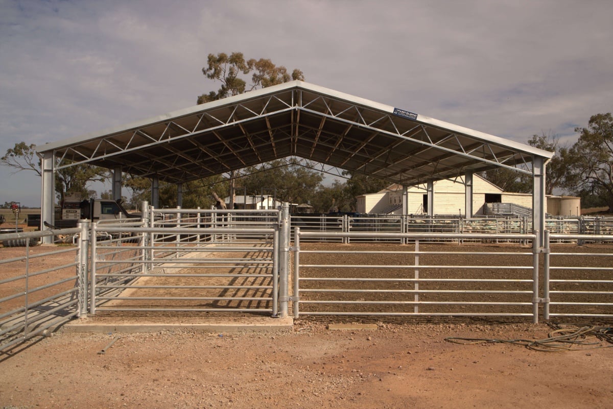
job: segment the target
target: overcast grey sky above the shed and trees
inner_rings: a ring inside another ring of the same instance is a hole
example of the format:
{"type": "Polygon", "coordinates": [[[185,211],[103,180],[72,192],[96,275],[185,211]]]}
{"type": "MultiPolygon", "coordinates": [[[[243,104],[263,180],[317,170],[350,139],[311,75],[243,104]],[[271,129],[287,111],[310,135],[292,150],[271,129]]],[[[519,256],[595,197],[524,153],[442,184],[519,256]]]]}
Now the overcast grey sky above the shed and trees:
{"type": "MultiPolygon", "coordinates": [[[[0,0],[0,156],[196,105],[209,53],[527,143],[613,111],[611,0],[0,0]]],[[[0,204],[40,178],[0,166],[0,204]]],[[[96,188],[96,187],[94,187],[96,188]]],[[[110,189],[110,186],[98,186],[110,189]]]]}

